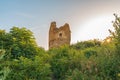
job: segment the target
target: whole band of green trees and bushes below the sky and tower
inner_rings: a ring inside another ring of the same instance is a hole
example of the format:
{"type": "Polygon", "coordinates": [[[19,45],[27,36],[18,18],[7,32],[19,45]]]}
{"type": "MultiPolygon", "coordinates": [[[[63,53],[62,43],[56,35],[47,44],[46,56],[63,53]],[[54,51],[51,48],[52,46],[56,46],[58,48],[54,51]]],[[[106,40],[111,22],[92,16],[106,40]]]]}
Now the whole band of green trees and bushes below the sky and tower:
{"type": "Polygon", "coordinates": [[[45,51],[30,30],[0,30],[0,80],[120,80],[120,17],[110,42],[88,40],[45,51]]]}

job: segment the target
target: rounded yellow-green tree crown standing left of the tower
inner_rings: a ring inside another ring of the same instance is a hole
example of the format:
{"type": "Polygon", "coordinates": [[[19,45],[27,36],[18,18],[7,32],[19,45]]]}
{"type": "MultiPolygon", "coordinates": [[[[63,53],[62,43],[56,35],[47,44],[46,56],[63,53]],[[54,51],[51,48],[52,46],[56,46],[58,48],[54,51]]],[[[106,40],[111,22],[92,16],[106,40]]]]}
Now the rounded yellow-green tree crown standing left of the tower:
{"type": "Polygon", "coordinates": [[[13,27],[10,30],[13,45],[11,46],[12,58],[20,56],[31,58],[38,49],[33,33],[26,28],[13,27]]]}

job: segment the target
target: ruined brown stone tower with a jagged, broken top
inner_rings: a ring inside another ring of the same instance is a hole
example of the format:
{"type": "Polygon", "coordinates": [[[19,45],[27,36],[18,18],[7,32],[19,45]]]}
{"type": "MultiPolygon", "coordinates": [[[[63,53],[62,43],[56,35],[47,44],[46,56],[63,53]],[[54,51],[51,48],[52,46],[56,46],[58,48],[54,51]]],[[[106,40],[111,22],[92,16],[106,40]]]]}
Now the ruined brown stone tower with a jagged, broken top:
{"type": "Polygon", "coordinates": [[[64,24],[60,28],[56,27],[56,22],[51,22],[49,29],[49,49],[62,45],[70,45],[71,31],[69,24],[64,24]]]}

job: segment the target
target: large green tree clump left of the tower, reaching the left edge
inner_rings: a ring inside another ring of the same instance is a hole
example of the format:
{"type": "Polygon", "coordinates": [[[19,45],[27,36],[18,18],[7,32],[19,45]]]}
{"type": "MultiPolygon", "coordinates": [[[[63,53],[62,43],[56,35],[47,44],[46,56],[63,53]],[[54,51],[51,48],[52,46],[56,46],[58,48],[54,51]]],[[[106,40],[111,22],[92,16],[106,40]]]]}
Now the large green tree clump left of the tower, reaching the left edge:
{"type": "Polygon", "coordinates": [[[6,58],[13,59],[18,59],[20,56],[32,58],[40,49],[33,33],[26,28],[13,27],[9,33],[0,30],[0,44],[1,48],[6,49],[6,58]]]}

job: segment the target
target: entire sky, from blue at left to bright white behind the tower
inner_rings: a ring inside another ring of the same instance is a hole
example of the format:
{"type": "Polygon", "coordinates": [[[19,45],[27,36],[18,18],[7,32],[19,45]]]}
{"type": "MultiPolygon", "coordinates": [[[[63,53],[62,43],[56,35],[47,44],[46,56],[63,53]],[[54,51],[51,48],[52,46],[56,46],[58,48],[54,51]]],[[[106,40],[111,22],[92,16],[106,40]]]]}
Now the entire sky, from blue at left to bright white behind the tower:
{"type": "Polygon", "coordinates": [[[69,23],[72,44],[108,36],[113,13],[120,14],[120,0],[0,0],[0,29],[26,27],[48,49],[52,21],[58,27],[69,23]]]}

